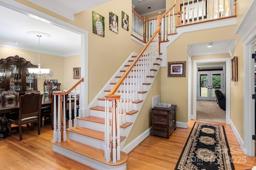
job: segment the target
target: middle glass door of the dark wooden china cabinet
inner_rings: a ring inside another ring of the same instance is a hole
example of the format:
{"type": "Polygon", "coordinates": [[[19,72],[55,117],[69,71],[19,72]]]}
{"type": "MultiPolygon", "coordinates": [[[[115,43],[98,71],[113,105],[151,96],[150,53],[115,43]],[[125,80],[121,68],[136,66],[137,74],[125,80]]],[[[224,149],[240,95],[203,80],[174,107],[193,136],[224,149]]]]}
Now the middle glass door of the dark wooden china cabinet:
{"type": "Polygon", "coordinates": [[[22,64],[10,63],[10,90],[22,90],[22,64]]]}

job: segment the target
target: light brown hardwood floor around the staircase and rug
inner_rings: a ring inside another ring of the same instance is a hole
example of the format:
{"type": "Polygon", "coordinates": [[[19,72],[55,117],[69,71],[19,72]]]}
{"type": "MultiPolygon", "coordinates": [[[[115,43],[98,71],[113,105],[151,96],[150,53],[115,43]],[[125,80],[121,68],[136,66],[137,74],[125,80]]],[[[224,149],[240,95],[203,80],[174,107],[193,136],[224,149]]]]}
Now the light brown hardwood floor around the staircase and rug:
{"type": "MultiPolygon", "coordinates": [[[[186,143],[195,121],[188,122],[188,129],[176,128],[170,139],[147,137],[138,147],[128,154],[128,170],[173,170],[186,143]]],[[[201,121],[202,122],[202,121],[201,121]]],[[[245,170],[256,166],[256,157],[242,153],[230,125],[224,125],[228,144],[236,170],[245,170]]],[[[92,168],[60,156],[51,151],[52,130],[50,125],[41,128],[37,135],[36,128],[30,131],[24,127],[22,141],[17,131],[11,137],[0,141],[0,170],[91,170],[92,168]]]]}

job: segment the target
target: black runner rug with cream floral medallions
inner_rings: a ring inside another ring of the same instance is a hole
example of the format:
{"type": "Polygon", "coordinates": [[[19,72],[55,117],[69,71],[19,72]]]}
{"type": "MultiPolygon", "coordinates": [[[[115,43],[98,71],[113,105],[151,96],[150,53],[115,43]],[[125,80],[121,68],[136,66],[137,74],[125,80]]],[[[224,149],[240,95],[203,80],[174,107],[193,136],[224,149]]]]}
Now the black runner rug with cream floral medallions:
{"type": "Polygon", "coordinates": [[[195,122],[175,170],[234,170],[222,125],[195,122]]]}

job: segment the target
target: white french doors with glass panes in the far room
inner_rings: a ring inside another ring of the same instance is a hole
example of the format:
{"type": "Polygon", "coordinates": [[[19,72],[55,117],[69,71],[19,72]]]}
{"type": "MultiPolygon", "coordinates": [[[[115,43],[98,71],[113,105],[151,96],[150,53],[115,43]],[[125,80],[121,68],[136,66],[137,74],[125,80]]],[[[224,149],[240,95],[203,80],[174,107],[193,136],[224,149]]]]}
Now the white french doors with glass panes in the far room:
{"type": "MultiPolygon", "coordinates": [[[[198,72],[198,100],[216,100],[214,89],[222,90],[223,71],[200,71],[198,72]]],[[[222,90],[223,92],[223,90],[222,90]]]]}

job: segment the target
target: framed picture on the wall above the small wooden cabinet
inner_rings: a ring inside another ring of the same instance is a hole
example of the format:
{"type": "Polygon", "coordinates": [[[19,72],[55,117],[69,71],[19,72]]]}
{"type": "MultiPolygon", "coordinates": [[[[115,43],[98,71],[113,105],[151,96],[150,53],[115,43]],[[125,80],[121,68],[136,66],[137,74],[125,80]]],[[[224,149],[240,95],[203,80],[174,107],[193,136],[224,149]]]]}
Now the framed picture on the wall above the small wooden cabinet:
{"type": "Polygon", "coordinates": [[[186,77],[186,61],[168,62],[168,77],[186,77]]]}

